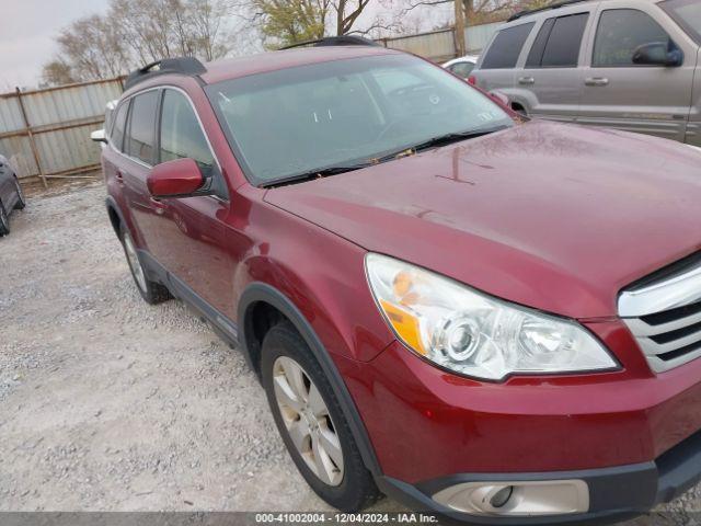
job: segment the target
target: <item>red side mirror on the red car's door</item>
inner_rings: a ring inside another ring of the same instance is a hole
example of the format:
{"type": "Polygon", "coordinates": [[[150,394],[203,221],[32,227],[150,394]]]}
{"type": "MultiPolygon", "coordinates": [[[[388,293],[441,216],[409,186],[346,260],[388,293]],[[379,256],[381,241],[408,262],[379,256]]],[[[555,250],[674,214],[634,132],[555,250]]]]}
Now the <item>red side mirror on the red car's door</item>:
{"type": "Polygon", "coordinates": [[[175,159],[162,162],[146,178],[146,185],[153,197],[187,197],[209,194],[199,167],[193,159],[175,159]]]}

